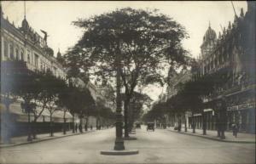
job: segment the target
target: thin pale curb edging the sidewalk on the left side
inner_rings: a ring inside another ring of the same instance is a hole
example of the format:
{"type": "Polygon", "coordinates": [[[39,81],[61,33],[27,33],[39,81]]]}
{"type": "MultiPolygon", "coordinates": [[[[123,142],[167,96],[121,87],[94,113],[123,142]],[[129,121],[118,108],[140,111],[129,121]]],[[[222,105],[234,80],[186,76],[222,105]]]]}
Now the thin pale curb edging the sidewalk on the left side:
{"type": "Polygon", "coordinates": [[[61,139],[61,138],[65,138],[65,137],[71,137],[71,136],[75,136],[75,135],[81,135],[81,134],[92,133],[92,132],[96,132],[96,130],[87,131],[87,132],[84,132],[84,133],[72,133],[72,134],[69,134],[69,135],[66,134],[66,135],[63,135],[63,136],[51,137],[51,138],[47,138],[47,139],[32,140],[30,142],[27,141],[27,142],[18,143],[18,144],[3,144],[3,145],[0,145],[0,149],[19,146],[19,145],[23,145],[23,144],[34,144],[34,143],[39,143],[39,142],[43,142],[43,141],[47,141],[47,140],[51,140],[51,139],[61,139]]]}

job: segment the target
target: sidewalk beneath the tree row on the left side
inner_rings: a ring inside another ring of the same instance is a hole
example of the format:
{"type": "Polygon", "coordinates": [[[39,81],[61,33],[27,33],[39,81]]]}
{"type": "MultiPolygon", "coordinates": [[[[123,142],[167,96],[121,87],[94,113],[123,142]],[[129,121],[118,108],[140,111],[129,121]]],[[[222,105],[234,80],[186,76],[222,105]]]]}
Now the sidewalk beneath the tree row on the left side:
{"type": "MultiPolygon", "coordinates": [[[[88,130],[84,131],[84,133],[90,133],[90,132],[95,132],[96,130],[88,130]]],[[[16,145],[21,145],[21,144],[32,144],[32,143],[38,143],[41,141],[49,140],[49,139],[60,139],[63,137],[68,137],[68,136],[73,136],[73,135],[79,135],[79,134],[84,134],[84,133],[73,133],[72,131],[67,131],[67,133],[64,135],[63,132],[57,132],[54,133],[53,137],[49,136],[49,133],[42,133],[42,134],[37,134],[38,139],[33,139],[32,141],[27,141],[27,136],[20,136],[20,137],[14,137],[11,139],[10,144],[0,144],[0,148],[5,148],[5,147],[11,147],[11,146],[16,146],[16,145]]]]}

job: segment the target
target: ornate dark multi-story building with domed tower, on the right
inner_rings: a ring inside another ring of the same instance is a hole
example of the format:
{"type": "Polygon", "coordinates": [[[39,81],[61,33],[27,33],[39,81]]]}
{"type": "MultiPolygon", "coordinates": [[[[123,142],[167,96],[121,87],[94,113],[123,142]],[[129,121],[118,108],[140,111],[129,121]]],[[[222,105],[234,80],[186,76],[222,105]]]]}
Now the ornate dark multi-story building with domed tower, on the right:
{"type": "MultiPolygon", "coordinates": [[[[240,16],[222,34],[209,25],[201,45],[200,75],[225,72],[228,81],[218,86],[206,103],[225,97],[227,129],[233,123],[240,131],[255,133],[255,2],[247,2],[247,13],[240,16]]],[[[215,129],[214,109],[206,109],[207,129],[215,129]]],[[[195,116],[201,128],[201,115],[195,116]]]]}

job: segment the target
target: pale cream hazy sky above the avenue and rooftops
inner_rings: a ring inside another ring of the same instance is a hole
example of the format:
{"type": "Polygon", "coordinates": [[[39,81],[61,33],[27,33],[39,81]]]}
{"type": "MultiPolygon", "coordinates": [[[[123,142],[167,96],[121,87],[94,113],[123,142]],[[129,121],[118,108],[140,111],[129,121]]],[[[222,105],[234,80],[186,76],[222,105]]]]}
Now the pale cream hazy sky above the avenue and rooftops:
{"type": "MultiPolygon", "coordinates": [[[[233,2],[236,14],[241,8],[247,11],[247,2],[233,2]]],[[[10,22],[20,26],[24,18],[24,2],[2,1],[4,17],[8,16],[10,22]]],[[[83,31],[72,25],[79,18],[90,18],[95,14],[108,13],[116,8],[141,8],[160,10],[160,13],[170,16],[183,25],[189,33],[189,39],[183,40],[183,47],[189,50],[193,57],[200,54],[202,38],[209,24],[216,33],[222,27],[227,27],[229,21],[233,22],[235,13],[230,1],[216,2],[171,2],[171,1],[28,1],[26,2],[26,20],[42,37],[40,30],[48,32],[48,46],[53,48],[55,54],[60,48],[65,54],[67,48],[79,41],[83,31]]],[[[149,86],[143,90],[156,100],[165,88],[149,86]]]]}

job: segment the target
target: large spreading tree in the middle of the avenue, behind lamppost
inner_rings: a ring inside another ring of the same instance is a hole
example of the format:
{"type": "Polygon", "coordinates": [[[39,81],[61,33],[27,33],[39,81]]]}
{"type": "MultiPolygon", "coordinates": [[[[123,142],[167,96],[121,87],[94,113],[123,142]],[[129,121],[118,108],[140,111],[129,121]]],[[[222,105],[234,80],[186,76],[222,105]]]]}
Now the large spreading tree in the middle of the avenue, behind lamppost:
{"type": "Polygon", "coordinates": [[[163,84],[166,68],[186,64],[187,51],[181,45],[188,37],[182,25],[157,10],[117,9],[73,22],[84,29],[79,42],[66,54],[67,65],[112,80],[119,55],[125,88],[125,137],[127,110],[137,85],[163,84]]]}

